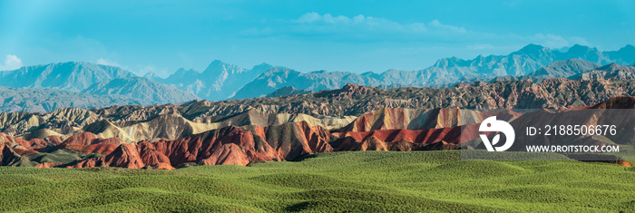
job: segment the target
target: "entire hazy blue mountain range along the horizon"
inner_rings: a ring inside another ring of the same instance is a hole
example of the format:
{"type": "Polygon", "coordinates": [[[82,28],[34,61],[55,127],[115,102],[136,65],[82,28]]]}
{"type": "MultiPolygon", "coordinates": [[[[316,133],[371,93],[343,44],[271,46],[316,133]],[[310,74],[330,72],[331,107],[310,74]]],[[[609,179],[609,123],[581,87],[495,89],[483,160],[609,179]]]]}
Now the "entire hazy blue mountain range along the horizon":
{"type": "Polygon", "coordinates": [[[108,65],[50,63],[1,72],[0,86],[6,89],[0,90],[0,97],[5,100],[0,111],[54,111],[65,107],[150,105],[199,99],[223,101],[268,95],[277,97],[336,90],[347,83],[390,89],[448,88],[472,82],[542,82],[551,78],[630,79],[630,72],[623,67],[628,67],[629,63],[633,63],[633,66],[634,62],[635,47],[632,45],[626,45],[618,51],[600,52],[582,45],[559,51],[529,44],[508,55],[479,55],[472,60],[444,58],[418,71],[388,70],[384,73],[361,74],[327,71],[300,73],[267,63],[248,70],[216,60],[203,72],[181,68],[167,78],[157,77],[153,73],[142,78],[108,65]],[[607,74],[596,72],[581,75],[611,63],[623,69],[607,74]],[[73,94],[83,98],[73,98],[73,94]]]}

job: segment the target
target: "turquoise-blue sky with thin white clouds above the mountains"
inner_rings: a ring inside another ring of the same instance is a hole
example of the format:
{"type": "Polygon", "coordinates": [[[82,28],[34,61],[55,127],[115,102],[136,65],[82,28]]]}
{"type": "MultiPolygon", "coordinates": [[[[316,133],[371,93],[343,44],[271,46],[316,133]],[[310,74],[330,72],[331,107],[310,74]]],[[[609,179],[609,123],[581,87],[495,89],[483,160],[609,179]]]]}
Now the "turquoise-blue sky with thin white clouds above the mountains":
{"type": "Polygon", "coordinates": [[[0,71],[90,62],[166,77],[213,60],[420,70],[526,44],[635,44],[635,1],[2,1],[0,71]]]}

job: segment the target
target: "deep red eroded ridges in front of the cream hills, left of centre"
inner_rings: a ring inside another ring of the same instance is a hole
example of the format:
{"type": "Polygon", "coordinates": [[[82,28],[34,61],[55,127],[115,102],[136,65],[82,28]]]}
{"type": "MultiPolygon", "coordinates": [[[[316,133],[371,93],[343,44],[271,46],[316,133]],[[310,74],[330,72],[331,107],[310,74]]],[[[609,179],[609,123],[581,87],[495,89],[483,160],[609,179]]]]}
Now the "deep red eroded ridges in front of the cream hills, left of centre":
{"type": "MultiPolygon", "coordinates": [[[[84,138],[93,140],[88,136],[84,138]]],[[[332,151],[330,138],[328,131],[311,127],[306,121],[267,128],[252,126],[249,131],[226,127],[178,140],[121,144],[106,156],[71,167],[179,168],[186,163],[245,166],[257,160],[292,160],[308,153],[332,151]]],[[[72,146],[76,145],[66,148],[72,146]]]]}

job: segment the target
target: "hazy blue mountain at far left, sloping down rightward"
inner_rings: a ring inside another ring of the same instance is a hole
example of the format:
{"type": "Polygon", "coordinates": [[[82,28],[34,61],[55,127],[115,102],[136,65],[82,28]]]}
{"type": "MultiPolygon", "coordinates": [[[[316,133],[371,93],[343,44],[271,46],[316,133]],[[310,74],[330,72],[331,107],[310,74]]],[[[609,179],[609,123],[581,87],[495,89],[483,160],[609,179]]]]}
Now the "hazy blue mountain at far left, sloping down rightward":
{"type": "Polygon", "coordinates": [[[15,104],[0,107],[2,111],[52,111],[63,107],[149,105],[199,99],[190,92],[137,77],[122,68],[94,63],[25,66],[1,72],[0,86],[15,88],[5,88],[4,95],[0,96],[9,97],[5,104],[15,104]],[[28,100],[28,95],[34,95],[34,99],[28,100]]]}

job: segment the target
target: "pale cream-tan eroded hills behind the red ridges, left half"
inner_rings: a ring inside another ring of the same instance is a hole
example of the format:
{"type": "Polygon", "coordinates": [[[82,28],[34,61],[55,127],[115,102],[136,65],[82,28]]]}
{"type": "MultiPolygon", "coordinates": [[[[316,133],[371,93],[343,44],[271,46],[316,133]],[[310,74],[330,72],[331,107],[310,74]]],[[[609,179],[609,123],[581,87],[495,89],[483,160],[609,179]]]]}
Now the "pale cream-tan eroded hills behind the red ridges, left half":
{"type": "MultiPolygon", "coordinates": [[[[0,131],[25,139],[44,139],[50,135],[65,138],[87,131],[100,137],[116,137],[131,142],[179,139],[228,126],[267,127],[298,121],[306,121],[310,125],[331,130],[341,128],[355,119],[354,116],[316,118],[307,114],[268,113],[249,108],[225,116],[215,116],[212,120],[204,114],[190,114],[190,111],[181,113],[179,110],[183,110],[183,107],[180,109],[177,105],[168,104],[152,107],[115,106],[92,111],[65,108],[48,113],[5,112],[0,113],[0,131]]],[[[218,112],[214,109],[210,111],[218,112]]]]}

